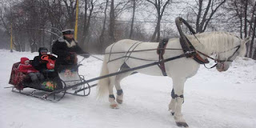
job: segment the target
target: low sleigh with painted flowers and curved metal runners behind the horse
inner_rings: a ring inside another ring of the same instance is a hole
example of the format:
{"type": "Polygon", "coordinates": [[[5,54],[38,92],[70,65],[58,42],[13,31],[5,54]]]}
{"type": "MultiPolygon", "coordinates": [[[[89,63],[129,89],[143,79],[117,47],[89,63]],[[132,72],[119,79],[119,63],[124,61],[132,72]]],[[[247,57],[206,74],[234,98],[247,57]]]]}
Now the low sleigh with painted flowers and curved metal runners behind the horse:
{"type": "Polygon", "coordinates": [[[85,82],[84,76],[78,74],[77,65],[59,66],[58,71],[46,70],[46,72],[43,73],[45,77],[43,81],[32,82],[29,75],[23,74],[18,70],[19,64],[20,62],[14,63],[10,74],[9,83],[13,85],[13,92],[49,101],[59,101],[65,94],[77,96],[87,96],[90,94],[89,84],[82,84],[81,86],[75,86],[70,88],[70,90],[64,90],[45,98],[45,95],[50,92],[63,90],[77,83],[85,82]]]}

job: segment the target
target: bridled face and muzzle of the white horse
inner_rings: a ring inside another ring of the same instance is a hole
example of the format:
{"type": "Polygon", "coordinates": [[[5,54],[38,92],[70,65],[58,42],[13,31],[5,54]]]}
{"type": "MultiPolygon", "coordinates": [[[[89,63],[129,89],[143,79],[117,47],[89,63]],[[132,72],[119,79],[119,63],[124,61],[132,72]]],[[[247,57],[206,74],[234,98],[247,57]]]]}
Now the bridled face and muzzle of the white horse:
{"type": "MultiPolygon", "coordinates": [[[[246,42],[250,41],[250,37],[245,39],[240,39],[240,44],[238,46],[235,46],[232,50],[225,51],[226,57],[223,57],[222,55],[218,55],[218,60],[216,69],[219,72],[226,71],[230,68],[230,64],[234,61],[234,59],[237,56],[243,57],[246,55],[246,42]]],[[[223,54],[222,52],[221,54],[223,54]]]]}

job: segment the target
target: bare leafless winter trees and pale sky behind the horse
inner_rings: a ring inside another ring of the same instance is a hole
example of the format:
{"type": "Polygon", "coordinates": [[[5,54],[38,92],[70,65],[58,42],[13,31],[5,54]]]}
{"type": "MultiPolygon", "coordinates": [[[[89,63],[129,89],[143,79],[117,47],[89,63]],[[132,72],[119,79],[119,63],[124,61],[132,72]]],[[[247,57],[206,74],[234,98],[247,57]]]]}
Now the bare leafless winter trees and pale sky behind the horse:
{"type": "Polygon", "coordinates": [[[103,54],[106,46],[124,38],[178,38],[174,19],[182,17],[197,33],[250,37],[246,57],[256,60],[255,0],[2,0],[0,49],[50,50],[62,30],[74,29],[76,12],[78,44],[90,53],[103,54]]]}

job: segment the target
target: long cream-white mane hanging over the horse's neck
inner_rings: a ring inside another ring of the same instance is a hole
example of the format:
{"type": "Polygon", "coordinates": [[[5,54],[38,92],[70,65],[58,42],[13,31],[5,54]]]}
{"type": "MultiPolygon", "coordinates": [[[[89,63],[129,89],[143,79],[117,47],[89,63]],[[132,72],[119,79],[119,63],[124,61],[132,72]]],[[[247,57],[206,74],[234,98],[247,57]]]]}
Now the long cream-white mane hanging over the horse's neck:
{"type": "MultiPolygon", "coordinates": [[[[196,50],[206,54],[218,54],[223,52],[227,54],[228,52],[226,51],[232,50],[242,42],[242,39],[228,32],[205,32],[202,34],[195,34],[195,36],[198,39],[195,38],[194,35],[187,35],[187,38],[196,50]]],[[[226,56],[225,53],[222,54],[224,58],[226,56]]]]}

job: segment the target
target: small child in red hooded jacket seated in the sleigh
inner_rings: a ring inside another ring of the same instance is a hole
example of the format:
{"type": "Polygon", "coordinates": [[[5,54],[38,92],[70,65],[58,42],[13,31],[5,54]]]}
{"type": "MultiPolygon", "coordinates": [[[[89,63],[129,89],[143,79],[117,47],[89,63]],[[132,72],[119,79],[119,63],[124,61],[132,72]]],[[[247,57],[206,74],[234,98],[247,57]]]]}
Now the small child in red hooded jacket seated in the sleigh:
{"type": "Polygon", "coordinates": [[[35,70],[32,65],[30,65],[29,58],[21,58],[21,63],[18,66],[18,70],[24,74],[28,74],[32,82],[39,82],[44,80],[44,76],[40,74],[38,70],[35,70]]]}

